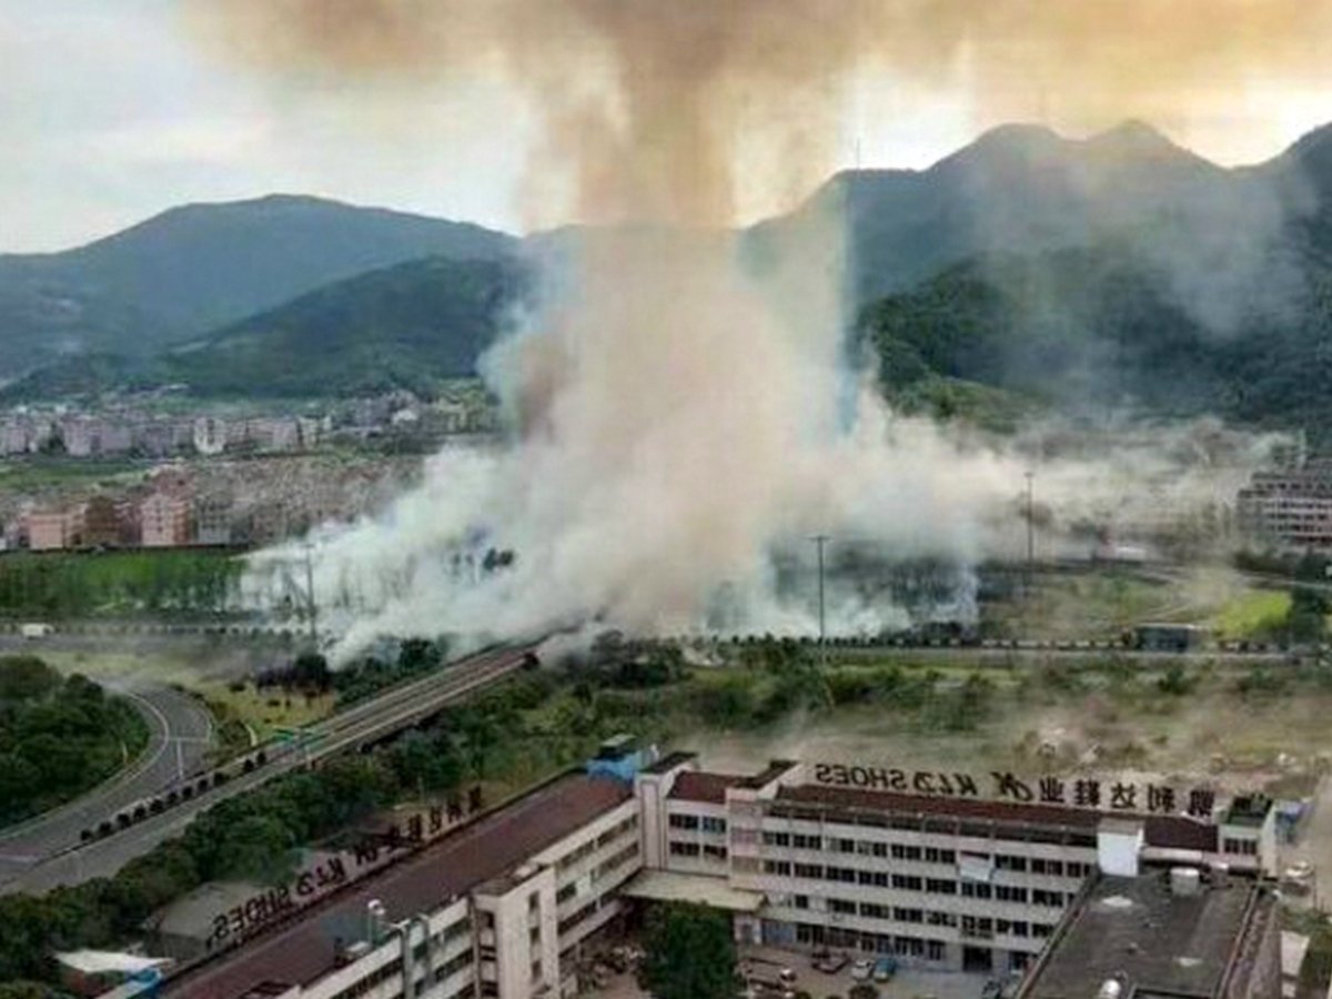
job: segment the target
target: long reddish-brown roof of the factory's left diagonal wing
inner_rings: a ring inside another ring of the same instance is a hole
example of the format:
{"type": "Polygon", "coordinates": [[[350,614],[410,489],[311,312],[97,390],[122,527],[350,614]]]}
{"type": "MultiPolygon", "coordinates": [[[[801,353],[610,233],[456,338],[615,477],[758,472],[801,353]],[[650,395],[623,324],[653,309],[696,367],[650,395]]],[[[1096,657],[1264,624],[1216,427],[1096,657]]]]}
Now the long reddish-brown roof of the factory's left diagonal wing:
{"type": "Polygon", "coordinates": [[[389,920],[438,908],[507,874],[631,794],[615,781],[582,773],[562,777],[382,874],[349,886],[281,928],[168,980],[161,995],[238,999],[256,986],[313,982],[333,971],[336,940],[364,936],[369,902],[384,903],[389,920]]]}

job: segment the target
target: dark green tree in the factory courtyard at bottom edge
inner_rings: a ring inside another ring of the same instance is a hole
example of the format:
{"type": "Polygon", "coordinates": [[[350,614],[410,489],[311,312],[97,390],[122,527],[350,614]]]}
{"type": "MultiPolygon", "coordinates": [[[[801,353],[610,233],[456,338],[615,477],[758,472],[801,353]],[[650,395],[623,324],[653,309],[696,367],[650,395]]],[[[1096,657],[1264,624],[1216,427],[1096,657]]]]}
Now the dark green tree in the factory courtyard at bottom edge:
{"type": "Polygon", "coordinates": [[[655,999],[733,999],[739,984],[735,940],[725,912],[698,904],[653,908],[639,986],[655,999]]]}

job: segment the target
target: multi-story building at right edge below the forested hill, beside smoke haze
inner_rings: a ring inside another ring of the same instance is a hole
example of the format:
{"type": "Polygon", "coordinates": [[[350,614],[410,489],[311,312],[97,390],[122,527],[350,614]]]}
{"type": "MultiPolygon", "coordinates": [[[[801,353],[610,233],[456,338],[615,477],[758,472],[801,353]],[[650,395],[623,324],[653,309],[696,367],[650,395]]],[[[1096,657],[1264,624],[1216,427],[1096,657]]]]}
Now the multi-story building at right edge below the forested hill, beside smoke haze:
{"type": "Polygon", "coordinates": [[[1332,550],[1332,460],[1255,473],[1239,492],[1240,530],[1265,545],[1332,550]]]}

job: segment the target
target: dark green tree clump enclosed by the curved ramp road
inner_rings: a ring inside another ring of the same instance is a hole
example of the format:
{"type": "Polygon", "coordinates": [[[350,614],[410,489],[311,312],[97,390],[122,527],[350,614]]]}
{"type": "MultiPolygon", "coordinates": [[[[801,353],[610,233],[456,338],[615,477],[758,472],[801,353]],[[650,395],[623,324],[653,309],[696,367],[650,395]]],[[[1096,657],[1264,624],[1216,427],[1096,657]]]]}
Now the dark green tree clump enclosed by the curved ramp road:
{"type": "Polygon", "coordinates": [[[137,757],[148,729],[125,701],[31,655],[0,658],[0,827],[77,798],[137,757]]]}

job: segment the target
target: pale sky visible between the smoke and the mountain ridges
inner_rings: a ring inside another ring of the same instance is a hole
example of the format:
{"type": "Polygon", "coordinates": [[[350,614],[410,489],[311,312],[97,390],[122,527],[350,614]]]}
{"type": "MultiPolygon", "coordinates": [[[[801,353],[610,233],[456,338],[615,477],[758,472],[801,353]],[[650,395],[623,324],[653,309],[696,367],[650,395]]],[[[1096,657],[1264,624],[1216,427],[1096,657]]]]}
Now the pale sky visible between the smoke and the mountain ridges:
{"type": "MultiPolygon", "coordinates": [[[[401,93],[316,76],[274,87],[198,44],[182,3],[0,0],[0,252],[64,249],[177,204],[272,192],[526,228],[519,188],[538,123],[518,91],[498,79],[401,93]]],[[[839,165],[922,168],[1002,124],[966,73],[928,88],[882,72],[847,81],[839,165]]],[[[1166,131],[1240,164],[1332,120],[1327,91],[1253,80],[1244,93],[1166,131]]],[[[790,206],[739,200],[746,218],[790,206]]]]}

